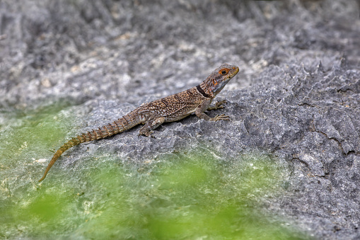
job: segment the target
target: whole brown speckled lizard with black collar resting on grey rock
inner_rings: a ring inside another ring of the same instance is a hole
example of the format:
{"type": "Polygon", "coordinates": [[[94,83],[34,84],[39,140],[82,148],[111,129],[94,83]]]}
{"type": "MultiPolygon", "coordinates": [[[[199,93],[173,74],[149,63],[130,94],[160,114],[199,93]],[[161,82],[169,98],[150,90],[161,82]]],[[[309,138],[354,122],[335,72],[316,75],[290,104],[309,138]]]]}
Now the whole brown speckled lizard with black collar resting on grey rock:
{"type": "Polygon", "coordinates": [[[222,105],[226,103],[226,101],[220,101],[214,106],[210,106],[211,101],[238,72],[239,68],[236,66],[221,64],[219,68],[211,72],[205,81],[193,88],[150,103],[143,103],[132,112],[127,113],[127,115],[108,125],[103,125],[103,127],[73,137],[57,150],[47,166],[44,176],[42,176],[39,182],[45,179],[50,168],[59,156],[67,149],[83,142],[103,139],[119,132],[127,131],[139,124],[144,124],[144,126],[140,128],[139,135],[149,137],[153,132],[152,130],[156,129],[156,127],[160,126],[163,122],[175,122],[186,118],[191,113],[195,113],[197,117],[209,121],[230,120],[229,116],[224,114],[210,118],[204,112],[206,110],[223,108],[222,105]]]}

